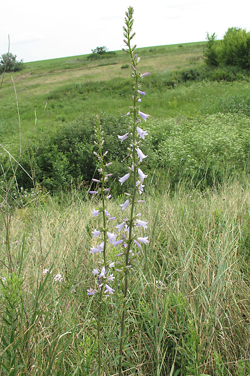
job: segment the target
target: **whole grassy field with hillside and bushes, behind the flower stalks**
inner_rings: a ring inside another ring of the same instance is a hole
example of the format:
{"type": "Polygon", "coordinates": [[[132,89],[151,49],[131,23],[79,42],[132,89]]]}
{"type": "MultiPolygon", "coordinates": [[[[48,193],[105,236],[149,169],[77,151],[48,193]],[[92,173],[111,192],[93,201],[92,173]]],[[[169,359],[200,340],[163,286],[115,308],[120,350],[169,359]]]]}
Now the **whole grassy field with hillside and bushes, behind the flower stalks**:
{"type": "MultiPolygon", "coordinates": [[[[151,115],[140,123],[148,132],[141,143],[148,177],[139,196],[145,204],[136,204],[137,218],[149,224],[137,227],[136,236],[149,242],[134,259],[126,299],[115,291],[102,306],[97,294],[86,294],[98,289],[92,271],[102,262],[89,253],[98,245],[93,232],[102,228],[91,214],[101,199],[89,195],[91,178],[99,176],[94,117],[99,114],[113,162],[105,204],[116,218],[108,221],[112,233],[124,221],[123,192],[132,190],[118,181],[131,165],[131,141],[117,139],[130,124],[121,117],[131,104],[130,62],[116,51],[99,60],[25,63],[12,75],[14,87],[5,75],[1,375],[94,376],[100,344],[102,374],[117,375],[124,301],[122,374],[250,374],[249,75],[208,69],[204,46],[136,50],[141,72],[150,72],[141,84],[141,111],[151,115]]],[[[117,259],[116,248],[107,248],[110,260],[117,259]]],[[[120,285],[117,279],[113,287],[120,285]]]]}

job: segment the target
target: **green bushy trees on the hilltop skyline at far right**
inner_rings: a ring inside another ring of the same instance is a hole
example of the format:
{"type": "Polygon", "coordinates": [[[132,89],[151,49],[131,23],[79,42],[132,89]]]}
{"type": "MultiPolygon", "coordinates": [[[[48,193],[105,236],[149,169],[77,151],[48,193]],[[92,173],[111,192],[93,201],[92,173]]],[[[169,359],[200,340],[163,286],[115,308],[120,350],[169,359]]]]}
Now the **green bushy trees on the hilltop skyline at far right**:
{"type": "Polygon", "coordinates": [[[205,62],[209,66],[235,66],[250,69],[250,32],[241,28],[229,28],[221,41],[207,33],[205,62]]]}

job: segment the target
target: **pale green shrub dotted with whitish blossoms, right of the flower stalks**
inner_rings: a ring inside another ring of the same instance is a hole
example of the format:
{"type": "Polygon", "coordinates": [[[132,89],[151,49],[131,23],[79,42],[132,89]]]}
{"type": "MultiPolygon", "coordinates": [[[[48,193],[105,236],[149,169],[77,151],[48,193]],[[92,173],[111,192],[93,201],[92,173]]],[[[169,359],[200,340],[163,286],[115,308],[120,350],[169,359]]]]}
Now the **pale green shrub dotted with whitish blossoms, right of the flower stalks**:
{"type": "MultiPolygon", "coordinates": [[[[169,120],[170,121],[170,120],[169,120]]],[[[249,160],[250,121],[242,114],[216,114],[206,118],[165,122],[165,139],[158,158],[173,180],[204,185],[220,182],[225,171],[244,170],[249,160]]]]}

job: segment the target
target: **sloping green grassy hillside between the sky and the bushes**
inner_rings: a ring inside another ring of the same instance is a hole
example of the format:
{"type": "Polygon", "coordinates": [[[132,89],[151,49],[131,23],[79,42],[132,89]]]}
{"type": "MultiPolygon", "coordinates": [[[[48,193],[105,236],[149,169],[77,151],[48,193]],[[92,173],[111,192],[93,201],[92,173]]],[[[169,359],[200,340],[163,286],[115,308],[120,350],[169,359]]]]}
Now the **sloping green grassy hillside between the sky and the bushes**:
{"type": "MultiPolygon", "coordinates": [[[[234,82],[238,72],[207,70],[202,59],[205,43],[137,50],[141,72],[150,72],[143,82],[145,112],[154,118],[206,115],[223,111],[230,97],[233,101],[238,95],[249,97],[245,76],[234,82]]],[[[50,132],[79,114],[94,116],[104,111],[117,116],[127,112],[131,78],[126,54],[116,51],[113,57],[98,60],[87,57],[25,63],[21,72],[12,74],[24,138],[35,123],[41,132],[50,132]]],[[[19,144],[19,120],[12,79],[5,74],[0,90],[0,133],[5,147],[14,151],[19,144]]]]}

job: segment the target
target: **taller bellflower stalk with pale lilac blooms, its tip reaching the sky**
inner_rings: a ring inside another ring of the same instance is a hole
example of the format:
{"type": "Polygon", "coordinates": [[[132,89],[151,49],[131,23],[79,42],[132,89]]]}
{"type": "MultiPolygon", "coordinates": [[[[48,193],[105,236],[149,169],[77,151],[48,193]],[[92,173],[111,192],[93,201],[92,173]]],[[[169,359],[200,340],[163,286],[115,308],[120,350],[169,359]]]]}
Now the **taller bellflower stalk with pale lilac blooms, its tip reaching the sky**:
{"type": "MultiPolygon", "coordinates": [[[[134,249],[134,245],[138,248],[141,247],[140,243],[147,244],[148,237],[137,237],[134,233],[134,227],[142,226],[144,229],[147,228],[148,221],[138,220],[139,215],[134,215],[136,210],[136,205],[139,203],[143,203],[143,200],[136,200],[137,195],[140,195],[143,191],[144,184],[142,184],[143,180],[147,177],[143,173],[143,171],[139,168],[139,164],[142,162],[144,158],[147,157],[141,149],[140,149],[140,142],[141,139],[144,140],[145,136],[148,133],[140,128],[138,124],[140,123],[140,118],[146,121],[148,118],[148,114],[145,114],[140,111],[140,96],[146,95],[144,91],[141,90],[140,81],[143,77],[149,75],[149,73],[139,73],[138,71],[138,64],[140,58],[137,57],[135,53],[136,45],[132,47],[131,40],[133,39],[135,33],[132,33],[132,26],[133,26],[133,9],[131,7],[128,8],[128,11],[125,13],[125,26],[123,26],[123,36],[124,36],[124,43],[127,49],[123,49],[123,51],[129,54],[131,59],[131,69],[132,69],[132,77],[133,77],[133,95],[132,95],[132,106],[129,107],[129,111],[123,116],[130,116],[132,120],[132,125],[129,127],[128,132],[124,135],[118,135],[118,138],[122,142],[127,137],[131,137],[131,148],[129,149],[129,157],[131,159],[131,168],[130,172],[125,174],[124,176],[119,178],[119,182],[122,183],[127,179],[132,179],[132,194],[129,198],[121,204],[121,209],[126,210],[130,207],[130,216],[127,219],[124,219],[120,225],[117,225],[116,228],[119,232],[127,231],[128,238],[125,238],[125,242],[123,242],[123,246],[125,248],[124,252],[120,253],[120,257],[123,262],[121,265],[123,266],[123,281],[121,285],[121,291],[123,292],[122,298],[122,307],[121,307],[121,324],[120,324],[120,342],[119,342],[119,366],[118,366],[118,375],[121,376],[122,372],[122,352],[123,352],[123,340],[124,340],[124,329],[125,329],[125,317],[126,317],[126,300],[127,300],[127,291],[128,291],[128,281],[129,281],[129,270],[131,270],[132,265],[131,263],[135,261],[135,257],[139,254],[134,249]]],[[[118,256],[118,255],[117,255],[118,256]]]]}

